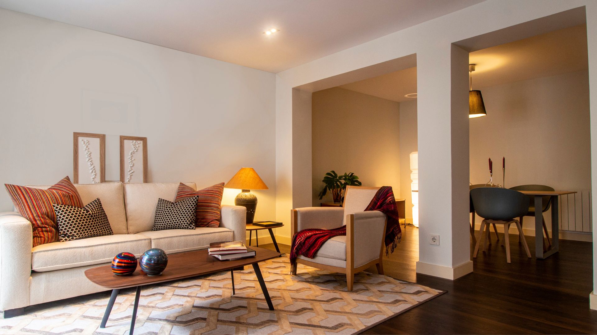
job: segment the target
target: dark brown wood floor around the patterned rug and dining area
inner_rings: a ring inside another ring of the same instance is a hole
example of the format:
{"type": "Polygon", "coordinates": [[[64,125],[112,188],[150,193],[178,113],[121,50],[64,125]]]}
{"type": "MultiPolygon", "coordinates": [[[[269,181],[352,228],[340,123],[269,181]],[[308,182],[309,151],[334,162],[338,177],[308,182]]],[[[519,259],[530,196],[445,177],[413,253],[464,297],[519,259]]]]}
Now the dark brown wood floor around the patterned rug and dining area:
{"type": "MultiPolygon", "coordinates": [[[[385,274],[448,293],[364,334],[597,334],[597,311],[589,309],[592,243],[560,240],[559,253],[538,260],[527,258],[518,236],[510,240],[512,263],[500,234],[487,254],[479,251],[472,274],[450,281],[416,274],[418,229],[407,227],[398,249],[384,258],[385,274]]],[[[534,237],[527,241],[534,250],[534,237]]]]}

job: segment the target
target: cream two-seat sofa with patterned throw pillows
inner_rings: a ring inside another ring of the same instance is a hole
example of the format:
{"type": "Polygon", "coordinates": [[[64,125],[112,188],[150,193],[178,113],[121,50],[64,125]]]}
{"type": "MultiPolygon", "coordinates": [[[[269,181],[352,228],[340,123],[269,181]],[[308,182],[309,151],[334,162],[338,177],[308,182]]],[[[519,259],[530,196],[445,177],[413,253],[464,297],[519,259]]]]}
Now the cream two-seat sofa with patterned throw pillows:
{"type": "MultiPolygon", "coordinates": [[[[32,226],[17,212],[0,213],[0,310],[13,317],[38,303],[106,291],[85,270],[107,265],[120,252],[139,257],[205,249],[211,242],[244,240],[245,207],[221,206],[219,228],[151,231],[158,198],[174,201],[178,183],[76,184],[84,204],[100,198],[114,235],[41,244],[32,248],[32,226]]],[[[187,183],[196,189],[195,183],[187,183]]],[[[30,187],[48,188],[50,185],[30,187]]]]}

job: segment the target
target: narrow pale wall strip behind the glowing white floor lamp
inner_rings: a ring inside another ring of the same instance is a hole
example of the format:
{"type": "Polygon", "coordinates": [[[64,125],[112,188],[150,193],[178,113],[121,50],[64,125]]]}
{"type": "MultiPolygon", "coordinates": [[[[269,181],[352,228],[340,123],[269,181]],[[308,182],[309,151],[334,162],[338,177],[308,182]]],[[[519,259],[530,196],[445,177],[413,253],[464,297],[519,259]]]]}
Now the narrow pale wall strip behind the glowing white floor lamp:
{"type": "Polygon", "coordinates": [[[405,199],[407,222],[413,222],[410,153],[417,151],[417,100],[400,103],[400,197],[405,199]]]}

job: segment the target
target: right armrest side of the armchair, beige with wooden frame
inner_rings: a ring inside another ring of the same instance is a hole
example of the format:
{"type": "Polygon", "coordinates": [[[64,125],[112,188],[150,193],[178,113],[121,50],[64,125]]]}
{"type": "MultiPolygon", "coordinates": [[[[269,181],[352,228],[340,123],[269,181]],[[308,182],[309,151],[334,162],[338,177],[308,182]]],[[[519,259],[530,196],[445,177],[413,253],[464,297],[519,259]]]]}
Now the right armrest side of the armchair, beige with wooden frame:
{"type": "Polygon", "coordinates": [[[386,215],[378,210],[367,212],[356,212],[347,215],[346,238],[349,238],[349,231],[352,230],[352,250],[350,255],[347,251],[347,260],[353,259],[353,265],[358,268],[371,260],[378,259],[383,250],[385,237],[386,215]],[[352,225],[352,229],[351,226],[352,225]]]}

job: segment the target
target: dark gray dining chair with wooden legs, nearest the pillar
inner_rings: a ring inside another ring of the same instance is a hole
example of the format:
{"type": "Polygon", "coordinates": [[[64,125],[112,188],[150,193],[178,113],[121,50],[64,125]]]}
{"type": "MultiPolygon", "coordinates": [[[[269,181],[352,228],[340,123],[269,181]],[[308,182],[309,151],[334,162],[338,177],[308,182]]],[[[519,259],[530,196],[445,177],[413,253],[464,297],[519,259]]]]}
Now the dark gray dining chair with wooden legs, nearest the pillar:
{"type": "Polygon", "coordinates": [[[528,249],[527,240],[522,233],[522,227],[517,219],[528,212],[528,197],[524,194],[501,187],[478,187],[470,190],[470,197],[473,199],[475,212],[483,218],[481,222],[481,238],[477,241],[473,258],[479,252],[479,244],[483,240],[483,249],[486,251],[484,235],[489,234],[490,224],[504,225],[504,245],[506,246],[506,260],[510,263],[510,225],[516,224],[518,233],[522,237],[527,256],[531,258],[531,250],[528,249]]]}

